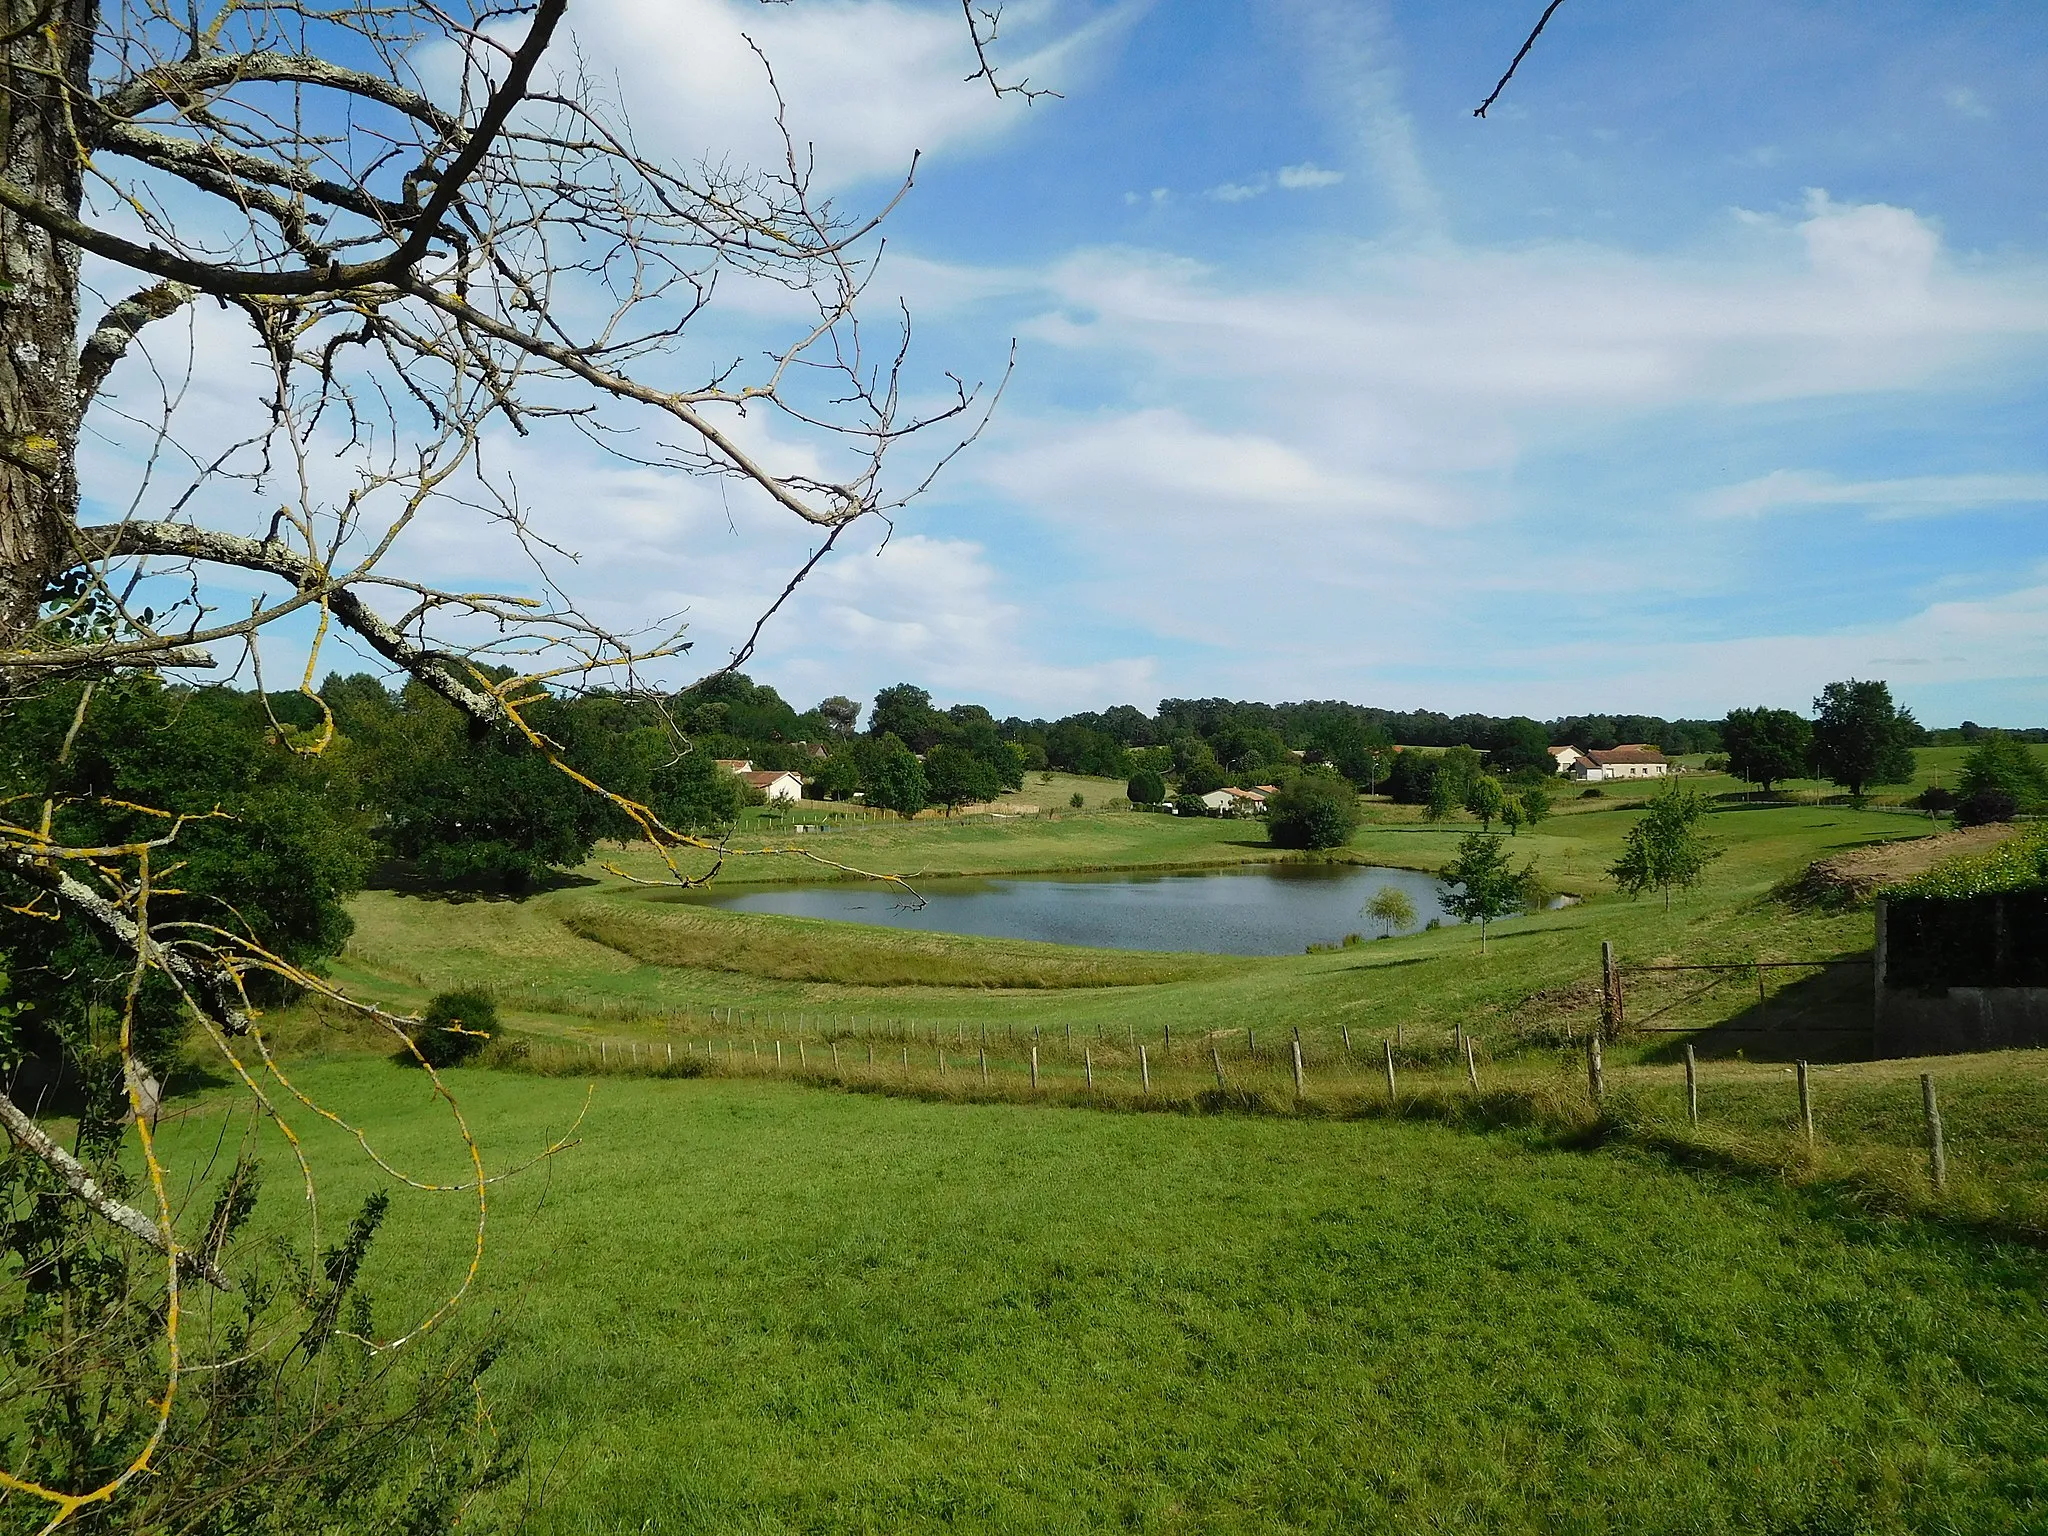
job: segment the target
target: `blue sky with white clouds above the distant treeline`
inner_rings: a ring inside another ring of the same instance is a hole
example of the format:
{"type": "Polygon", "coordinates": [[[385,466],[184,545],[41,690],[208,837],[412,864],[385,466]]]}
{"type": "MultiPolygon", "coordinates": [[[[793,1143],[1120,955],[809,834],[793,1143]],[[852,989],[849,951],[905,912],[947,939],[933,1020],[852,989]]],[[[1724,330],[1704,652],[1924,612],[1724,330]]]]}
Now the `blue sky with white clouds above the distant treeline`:
{"type": "MultiPolygon", "coordinates": [[[[1718,717],[1878,676],[2048,725],[2048,10],[1567,0],[1475,119],[1540,8],[1016,0],[995,55],[1059,94],[995,100],[956,4],[580,0],[643,150],[776,154],[752,37],[844,207],[918,152],[868,291],[913,393],[1014,348],[748,672],[1047,717],[1718,717]]],[[[571,592],[688,618],[678,682],[811,547],[741,487],[496,455],[571,592]]],[[[414,545],[479,559],[459,520],[414,545]]]]}

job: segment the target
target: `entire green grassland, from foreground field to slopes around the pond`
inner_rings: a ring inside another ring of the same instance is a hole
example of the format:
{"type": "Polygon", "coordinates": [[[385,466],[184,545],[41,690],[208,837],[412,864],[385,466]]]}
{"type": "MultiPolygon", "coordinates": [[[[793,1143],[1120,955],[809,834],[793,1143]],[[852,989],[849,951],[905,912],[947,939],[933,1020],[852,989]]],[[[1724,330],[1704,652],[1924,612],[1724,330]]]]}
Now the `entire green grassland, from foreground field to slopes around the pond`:
{"type": "MultiPolygon", "coordinates": [[[[1589,1092],[1604,940],[1624,965],[1866,958],[1870,909],[1798,877],[1927,823],[1731,807],[1665,909],[1604,874],[1636,805],[1571,801],[1516,838],[1579,901],[1485,952],[1458,926],[1243,958],[739,915],[604,868],[651,879],[647,850],[524,901],[365,895],[338,981],[408,1010],[500,999],[489,1065],[451,1073],[487,1163],[584,1114],[492,1186],[459,1313],[502,1341],[492,1415],[526,1454],[479,1526],[2048,1526],[2048,1053],[1864,1061],[1853,965],[1698,997],[1640,973],[1638,1022],[1686,1032],[1612,1042],[1589,1092]]],[[[1436,868],[1470,829],[1380,805],[1341,856],[1436,868]]],[[[805,846],[913,883],[1274,856],[1255,823],[1130,811],[805,846]]],[[[817,874],[762,854],[721,879],[741,870],[817,874]]],[[[463,1178],[387,1042],[332,1008],[270,1024],[295,1081],[395,1165],[463,1178]]],[[[219,1083],[180,1104],[186,1167],[240,1110],[219,1083]]],[[[291,1118],[328,1210],[373,1188],[352,1141],[291,1118]]],[[[266,1161],[287,1227],[299,1194],[266,1161]]],[[[461,1278],[473,1217],[397,1192],[383,1327],[461,1278]]]]}

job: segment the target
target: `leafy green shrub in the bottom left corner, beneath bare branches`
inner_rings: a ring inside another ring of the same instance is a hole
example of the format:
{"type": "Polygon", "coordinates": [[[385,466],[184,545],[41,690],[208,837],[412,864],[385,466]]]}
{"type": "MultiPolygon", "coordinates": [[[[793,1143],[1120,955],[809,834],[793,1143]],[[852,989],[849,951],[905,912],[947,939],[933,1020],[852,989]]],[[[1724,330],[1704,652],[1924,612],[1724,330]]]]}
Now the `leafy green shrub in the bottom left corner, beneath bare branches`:
{"type": "MultiPolygon", "coordinates": [[[[113,1118],[80,1126],[94,1182],[147,1208],[119,1143],[113,1118]]],[[[150,1473],[66,1530],[453,1532],[518,1464],[477,1413],[489,1354],[424,1343],[379,1358],[362,1343],[375,1337],[362,1280],[385,1194],[307,1266],[248,1233],[258,1190],[260,1167],[244,1155],[184,1239],[233,1290],[184,1284],[184,1378],[150,1473]]],[[[154,1251],[63,1198],[39,1159],[0,1159],[0,1456],[16,1477],[82,1491],[135,1460],[158,1421],[166,1323],[154,1251]]],[[[6,1530],[35,1530],[49,1513],[10,1495],[6,1530]]]]}

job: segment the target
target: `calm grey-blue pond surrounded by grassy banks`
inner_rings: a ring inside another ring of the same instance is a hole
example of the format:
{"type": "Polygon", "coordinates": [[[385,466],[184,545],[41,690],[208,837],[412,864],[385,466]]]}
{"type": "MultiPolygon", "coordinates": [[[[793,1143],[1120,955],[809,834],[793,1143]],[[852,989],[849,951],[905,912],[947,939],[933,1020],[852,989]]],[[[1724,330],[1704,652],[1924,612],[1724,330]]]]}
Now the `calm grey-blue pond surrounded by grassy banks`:
{"type": "Polygon", "coordinates": [[[1380,924],[1364,907],[1389,885],[1415,903],[1415,926],[1454,922],[1438,901],[1434,874],[1364,864],[918,881],[922,909],[874,885],[711,887],[662,899],[1094,948],[1300,954],[1346,934],[1376,938],[1380,924]]]}

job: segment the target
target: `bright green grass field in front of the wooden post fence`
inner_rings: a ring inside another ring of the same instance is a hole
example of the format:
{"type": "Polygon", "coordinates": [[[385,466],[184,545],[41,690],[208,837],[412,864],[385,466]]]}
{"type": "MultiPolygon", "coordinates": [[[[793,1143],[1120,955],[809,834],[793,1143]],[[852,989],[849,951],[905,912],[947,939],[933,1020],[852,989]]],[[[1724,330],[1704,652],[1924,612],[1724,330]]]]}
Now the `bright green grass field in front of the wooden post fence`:
{"type": "MultiPolygon", "coordinates": [[[[461,1176],[418,1073],[301,1079],[461,1176]]],[[[453,1083],[494,1165],[584,1092],[453,1083]]],[[[307,1130],[344,1208],[365,1165],[307,1130]]],[[[455,1284],[471,1214],[399,1192],[387,1323],[455,1284]]],[[[582,1145],[494,1190],[469,1317],[502,1317],[489,1403],[532,1479],[475,1524],[2038,1530],[2040,1282],[2034,1251],[1534,1128],[604,1081],[582,1145]]]]}

